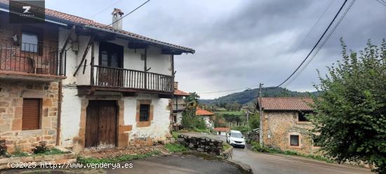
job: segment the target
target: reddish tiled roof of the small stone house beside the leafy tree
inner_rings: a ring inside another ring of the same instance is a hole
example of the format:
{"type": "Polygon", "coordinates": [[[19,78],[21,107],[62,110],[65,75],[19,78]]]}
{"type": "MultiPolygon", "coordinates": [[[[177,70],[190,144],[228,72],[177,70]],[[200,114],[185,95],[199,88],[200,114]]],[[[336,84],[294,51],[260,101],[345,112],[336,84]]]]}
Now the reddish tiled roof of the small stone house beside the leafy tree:
{"type": "Polygon", "coordinates": [[[312,110],[312,98],[261,98],[263,110],[312,110]]]}

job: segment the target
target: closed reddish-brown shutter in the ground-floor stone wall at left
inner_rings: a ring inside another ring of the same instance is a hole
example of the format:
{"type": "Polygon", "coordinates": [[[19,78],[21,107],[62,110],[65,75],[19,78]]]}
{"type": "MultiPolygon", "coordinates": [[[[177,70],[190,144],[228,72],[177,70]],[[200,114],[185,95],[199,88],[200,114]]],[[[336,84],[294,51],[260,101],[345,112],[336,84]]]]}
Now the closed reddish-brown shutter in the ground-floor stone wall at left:
{"type": "Polygon", "coordinates": [[[22,103],[22,130],[40,128],[41,100],[39,98],[25,98],[22,103]]]}

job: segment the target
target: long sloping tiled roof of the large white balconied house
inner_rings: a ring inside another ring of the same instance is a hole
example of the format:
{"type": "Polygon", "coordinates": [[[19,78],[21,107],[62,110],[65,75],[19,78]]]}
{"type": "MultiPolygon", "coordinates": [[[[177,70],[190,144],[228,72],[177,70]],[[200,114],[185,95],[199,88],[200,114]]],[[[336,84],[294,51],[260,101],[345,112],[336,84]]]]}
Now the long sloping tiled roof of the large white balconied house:
{"type": "MultiPolygon", "coordinates": [[[[8,0],[0,0],[0,4],[8,5],[9,1],[8,0]]],[[[81,17],[76,16],[76,15],[69,15],[67,13],[62,13],[60,11],[54,11],[54,10],[51,10],[51,9],[48,9],[48,8],[46,8],[45,11],[46,11],[46,15],[47,16],[58,18],[60,20],[67,20],[68,22],[74,22],[77,25],[83,25],[85,27],[92,26],[92,27],[96,27],[96,28],[99,28],[99,29],[107,29],[107,30],[110,30],[111,32],[117,32],[117,33],[120,33],[120,34],[124,34],[124,35],[126,35],[128,37],[131,37],[133,39],[138,39],[138,40],[141,40],[141,41],[147,41],[147,42],[150,42],[152,44],[156,44],[156,45],[160,45],[160,46],[167,46],[167,47],[170,47],[170,48],[175,48],[175,49],[178,49],[180,51],[184,51],[185,53],[194,53],[195,52],[192,48],[187,48],[187,47],[184,47],[184,46],[178,46],[178,45],[175,45],[175,44],[169,44],[169,43],[166,43],[164,41],[158,41],[158,40],[151,39],[151,38],[148,38],[148,37],[145,37],[145,36],[141,36],[139,34],[135,34],[135,33],[132,33],[132,32],[125,31],[123,29],[121,29],[121,30],[114,29],[112,26],[104,25],[104,24],[101,24],[99,22],[95,22],[93,20],[89,20],[89,19],[86,19],[86,18],[81,18],[81,17]]]]}

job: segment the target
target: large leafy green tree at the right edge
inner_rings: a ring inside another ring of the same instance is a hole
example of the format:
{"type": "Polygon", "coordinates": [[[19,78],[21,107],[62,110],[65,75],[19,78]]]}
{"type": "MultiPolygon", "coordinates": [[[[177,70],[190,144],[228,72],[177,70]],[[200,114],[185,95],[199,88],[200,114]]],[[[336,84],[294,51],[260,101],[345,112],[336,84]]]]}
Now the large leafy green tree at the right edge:
{"type": "Polygon", "coordinates": [[[359,54],[341,43],[343,60],[315,85],[314,131],[326,155],[367,161],[386,173],[386,41],[380,48],[368,41],[359,54]]]}

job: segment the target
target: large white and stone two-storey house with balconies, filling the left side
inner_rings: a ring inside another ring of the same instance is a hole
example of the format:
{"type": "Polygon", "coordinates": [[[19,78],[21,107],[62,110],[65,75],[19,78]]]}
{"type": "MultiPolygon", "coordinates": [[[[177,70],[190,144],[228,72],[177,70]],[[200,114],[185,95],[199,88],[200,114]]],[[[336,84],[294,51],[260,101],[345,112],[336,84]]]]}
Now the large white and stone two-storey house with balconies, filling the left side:
{"type": "Polygon", "coordinates": [[[0,0],[0,140],[9,152],[166,139],[174,56],[193,49],[123,30],[116,8],[112,26],[51,9],[17,24],[8,4],[0,0]]]}

